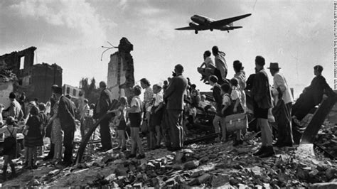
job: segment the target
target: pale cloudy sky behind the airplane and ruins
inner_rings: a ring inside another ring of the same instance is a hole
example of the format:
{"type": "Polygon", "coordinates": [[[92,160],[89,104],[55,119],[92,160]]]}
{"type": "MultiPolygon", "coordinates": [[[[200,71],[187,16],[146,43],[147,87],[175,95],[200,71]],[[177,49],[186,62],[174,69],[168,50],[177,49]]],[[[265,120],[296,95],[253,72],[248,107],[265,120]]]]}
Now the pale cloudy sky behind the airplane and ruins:
{"type": "Polygon", "coordinates": [[[192,83],[210,90],[196,68],[203,52],[218,45],[230,77],[234,60],[248,76],[262,55],[267,67],[279,63],[296,93],[310,84],[317,64],[333,87],[333,1],[0,1],[0,55],[36,46],[37,63],[60,65],[65,84],[78,86],[82,77],[106,81],[115,50],[100,61],[100,46],[118,45],[122,37],[134,44],[137,81],[162,82],[180,63],[192,83]],[[243,28],[230,33],[173,30],[188,26],[194,14],[217,20],[245,13],[252,16],[235,22],[243,28]]]}

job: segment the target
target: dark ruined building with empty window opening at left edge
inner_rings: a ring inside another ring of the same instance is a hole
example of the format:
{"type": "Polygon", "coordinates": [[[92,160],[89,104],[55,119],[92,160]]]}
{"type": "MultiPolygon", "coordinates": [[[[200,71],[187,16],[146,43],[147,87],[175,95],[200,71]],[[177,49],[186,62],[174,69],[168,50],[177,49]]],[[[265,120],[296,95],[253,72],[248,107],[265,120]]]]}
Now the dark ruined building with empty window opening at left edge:
{"type": "MultiPolygon", "coordinates": [[[[11,70],[16,77],[14,92],[26,92],[28,100],[38,98],[47,102],[51,96],[51,85],[62,85],[62,68],[47,63],[34,65],[36,47],[0,56],[0,70],[11,70]]],[[[1,102],[0,102],[1,103],[1,102]]]]}

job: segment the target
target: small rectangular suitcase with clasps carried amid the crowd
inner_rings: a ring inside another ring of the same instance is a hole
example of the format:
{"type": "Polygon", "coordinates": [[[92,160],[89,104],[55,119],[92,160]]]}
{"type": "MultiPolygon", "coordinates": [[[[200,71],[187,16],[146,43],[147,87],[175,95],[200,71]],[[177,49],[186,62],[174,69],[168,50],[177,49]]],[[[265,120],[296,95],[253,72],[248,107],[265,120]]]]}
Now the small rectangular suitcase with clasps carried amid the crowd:
{"type": "Polygon", "coordinates": [[[247,129],[248,119],[245,113],[232,114],[225,117],[225,124],[227,131],[237,131],[240,129],[247,129]]]}

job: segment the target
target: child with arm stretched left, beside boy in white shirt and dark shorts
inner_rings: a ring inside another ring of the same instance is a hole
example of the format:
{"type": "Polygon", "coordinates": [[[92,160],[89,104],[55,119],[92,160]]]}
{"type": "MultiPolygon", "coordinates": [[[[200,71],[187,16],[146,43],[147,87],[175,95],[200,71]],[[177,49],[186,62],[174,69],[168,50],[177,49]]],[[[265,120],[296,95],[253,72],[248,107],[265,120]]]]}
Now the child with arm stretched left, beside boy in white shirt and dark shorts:
{"type": "Polygon", "coordinates": [[[119,144],[115,149],[121,149],[121,151],[126,151],[126,139],[125,139],[125,129],[127,128],[127,97],[121,97],[119,99],[121,105],[118,109],[109,110],[107,113],[114,113],[116,116],[114,117],[114,124],[117,125],[117,133],[119,144]]]}

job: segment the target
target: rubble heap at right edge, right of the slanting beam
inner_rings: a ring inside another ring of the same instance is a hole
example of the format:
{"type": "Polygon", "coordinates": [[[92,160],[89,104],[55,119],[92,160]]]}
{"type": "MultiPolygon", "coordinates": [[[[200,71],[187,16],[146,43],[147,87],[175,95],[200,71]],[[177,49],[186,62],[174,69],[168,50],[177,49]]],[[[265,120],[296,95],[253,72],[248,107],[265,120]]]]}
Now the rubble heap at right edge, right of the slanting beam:
{"type": "Polygon", "coordinates": [[[326,121],[316,136],[316,144],[337,157],[337,125],[326,121]]]}

